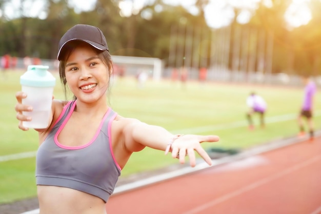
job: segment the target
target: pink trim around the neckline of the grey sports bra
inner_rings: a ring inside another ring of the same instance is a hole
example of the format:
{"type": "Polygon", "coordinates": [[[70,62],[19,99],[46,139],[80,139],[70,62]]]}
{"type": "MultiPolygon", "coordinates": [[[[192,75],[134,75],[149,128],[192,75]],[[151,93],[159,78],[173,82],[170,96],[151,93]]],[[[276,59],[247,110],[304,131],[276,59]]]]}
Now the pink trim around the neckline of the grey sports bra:
{"type": "Polygon", "coordinates": [[[58,141],[58,135],[59,135],[59,133],[63,130],[63,128],[65,127],[66,123],[68,122],[68,120],[69,120],[69,118],[70,118],[70,116],[71,116],[71,114],[72,114],[75,106],[76,106],[76,102],[74,102],[74,104],[72,105],[70,111],[68,112],[68,115],[67,115],[65,121],[63,122],[63,124],[61,125],[61,127],[59,127],[58,131],[56,132],[56,134],[55,134],[55,136],[54,136],[54,142],[55,142],[55,144],[56,144],[57,146],[63,148],[63,149],[70,149],[70,150],[82,149],[82,148],[85,148],[85,147],[89,146],[90,144],[92,144],[92,143],[96,140],[99,132],[101,131],[102,126],[103,126],[103,124],[104,124],[104,121],[105,121],[105,119],[106,119],[107,116],[108,116],[108,113],[111,111],[110,108],[107,110],[107,112],[106,112],[105,115],[104,115],[103,120],[101,121],[101,124],[99,124],[99,127],[98,127],[98,129],[97,129],[94,137],[91,139],[91,141],[89,141],[87,144],[82,145],[82,146],[65,146],[65,145],[59,143],[59,141],[58,141]]]}

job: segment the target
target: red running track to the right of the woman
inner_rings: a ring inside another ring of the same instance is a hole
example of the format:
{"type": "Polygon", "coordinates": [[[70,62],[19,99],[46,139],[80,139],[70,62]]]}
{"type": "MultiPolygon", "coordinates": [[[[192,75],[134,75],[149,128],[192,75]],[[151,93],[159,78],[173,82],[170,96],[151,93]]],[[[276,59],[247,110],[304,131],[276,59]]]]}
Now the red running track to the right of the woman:
{"type": "Polygon", "coordinates": [[[108,214],[321,214],[321,139],[112,195],[108,214]]]}

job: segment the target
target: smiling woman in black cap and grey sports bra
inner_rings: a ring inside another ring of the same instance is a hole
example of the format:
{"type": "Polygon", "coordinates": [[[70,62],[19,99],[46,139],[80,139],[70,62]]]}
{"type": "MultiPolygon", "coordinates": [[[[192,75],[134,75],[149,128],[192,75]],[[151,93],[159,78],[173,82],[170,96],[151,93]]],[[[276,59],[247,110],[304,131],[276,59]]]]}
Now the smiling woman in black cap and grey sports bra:
{"type": "MultiPolygon", "coordinates": [[[[124,118],[108,106],[113,71],[102,31],[75,25],[59,42],[57,59],[61,82],[74,94],[72,101],[53,100],[48,127],[37,129],[36,184],[40,213],[104,214],[121,170],[133,152],[146,146],[172,153],[184,163],[194,150],[211,165],[201,142],[216,142],[216,135],[173,135],[166,129],[124,118]]],[[[19,128],[31,118],[22,111],[27,94],[16,93],[19,128]]]]}

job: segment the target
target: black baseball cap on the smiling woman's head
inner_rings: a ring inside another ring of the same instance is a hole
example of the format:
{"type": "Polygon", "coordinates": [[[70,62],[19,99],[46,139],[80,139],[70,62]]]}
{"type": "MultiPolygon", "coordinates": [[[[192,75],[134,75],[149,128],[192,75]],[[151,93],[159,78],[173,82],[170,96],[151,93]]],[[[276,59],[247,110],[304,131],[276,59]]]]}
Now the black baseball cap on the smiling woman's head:
{"type": "Polygon", "coordinates": [[[61,60],[64,47],[71,41],[83,41],[98,50],[108,50],[106,38],[101,29],[92,25],[78,24],[70,28],[61,38],[57,60],[61,60]]]}

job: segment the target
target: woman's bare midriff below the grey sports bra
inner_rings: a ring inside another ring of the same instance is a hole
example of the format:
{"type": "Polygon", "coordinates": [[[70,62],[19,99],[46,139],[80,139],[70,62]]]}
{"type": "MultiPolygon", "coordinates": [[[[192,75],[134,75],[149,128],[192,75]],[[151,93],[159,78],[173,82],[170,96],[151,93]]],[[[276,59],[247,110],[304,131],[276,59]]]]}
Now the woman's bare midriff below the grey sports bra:
{"type": "Polygon", "coordinates": [[[106,203],[92,194],[58,186],[38,185],[39,214],[106,214],[106,203]]]}

